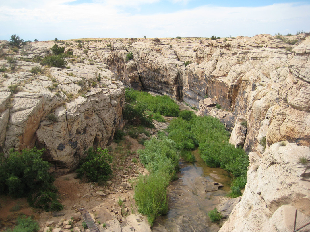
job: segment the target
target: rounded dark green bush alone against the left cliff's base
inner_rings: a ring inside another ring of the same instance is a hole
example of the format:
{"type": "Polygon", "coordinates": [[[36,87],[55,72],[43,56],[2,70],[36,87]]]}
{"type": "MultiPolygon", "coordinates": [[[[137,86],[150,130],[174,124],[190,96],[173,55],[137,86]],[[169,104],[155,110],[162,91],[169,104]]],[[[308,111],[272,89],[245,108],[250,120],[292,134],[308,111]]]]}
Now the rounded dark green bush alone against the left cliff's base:
{"type": "Polygon", "coordinates": [[[78,178],[85,177],[88,181],[101,182],[108,181],[112,173],[110,163],[112,156],[109,155],[107,149],[98,147],[95,150],[93,147],[85,151],[87,156],[80,161],[77,169],[78,178]]]}

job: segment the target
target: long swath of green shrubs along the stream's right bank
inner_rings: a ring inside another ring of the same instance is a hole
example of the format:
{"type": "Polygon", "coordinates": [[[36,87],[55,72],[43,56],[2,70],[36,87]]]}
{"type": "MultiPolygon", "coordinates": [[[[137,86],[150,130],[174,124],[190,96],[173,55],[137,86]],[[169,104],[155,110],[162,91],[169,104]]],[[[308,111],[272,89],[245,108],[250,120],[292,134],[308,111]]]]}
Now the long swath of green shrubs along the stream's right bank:
{"type": "Polygon", "coordinates": [[[230,135],[218,119],[210,116],[197,117],[186,111],[180,114],[182,118],[171,121],[167,129],[168,138],[175,141],[176,148],[181,154],[184,153],[184,156],[186,150],[199,146],[201,158],[208,166],[221,167],[236,177],[232,182],[232,194],[241,195],[241,189],[246,185],[246,171],[249,166],[245,151],[236,149],[228,142],[230,135]]]}

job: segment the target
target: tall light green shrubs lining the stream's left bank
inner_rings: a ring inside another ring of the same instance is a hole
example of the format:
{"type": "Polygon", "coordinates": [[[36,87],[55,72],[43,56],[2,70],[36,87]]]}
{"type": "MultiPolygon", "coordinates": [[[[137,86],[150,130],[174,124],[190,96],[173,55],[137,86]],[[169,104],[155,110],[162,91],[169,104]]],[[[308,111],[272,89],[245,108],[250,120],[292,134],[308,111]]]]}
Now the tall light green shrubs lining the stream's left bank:
{"type": "Polygon", "coordinates": [[[164,134],[145,141],[144,146],[145,149],[138,150],[139,158],[150,174],[137,178],[135,200],[139,213],[146,214],[152,226],[158,215],[168,212],[167,186],[179,171],[179,155],[175,142],[164,134]]]}

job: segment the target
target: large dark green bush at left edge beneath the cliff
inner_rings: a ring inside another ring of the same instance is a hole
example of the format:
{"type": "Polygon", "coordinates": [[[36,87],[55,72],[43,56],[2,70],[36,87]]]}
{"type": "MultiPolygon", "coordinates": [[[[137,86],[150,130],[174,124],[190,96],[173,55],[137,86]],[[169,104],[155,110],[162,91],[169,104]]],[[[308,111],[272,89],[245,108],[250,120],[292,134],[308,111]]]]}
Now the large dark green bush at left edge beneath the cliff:
{"type": "Polygon", "coordinates": [[[57,201],[54,178],[47,172],[50,164],[42,160],[44,149],[24,149],[22,153],[10,151],[0,163],[0,194],[13,197],[28,196],[30,206],[46,211],[63,209],[57,201]]]}

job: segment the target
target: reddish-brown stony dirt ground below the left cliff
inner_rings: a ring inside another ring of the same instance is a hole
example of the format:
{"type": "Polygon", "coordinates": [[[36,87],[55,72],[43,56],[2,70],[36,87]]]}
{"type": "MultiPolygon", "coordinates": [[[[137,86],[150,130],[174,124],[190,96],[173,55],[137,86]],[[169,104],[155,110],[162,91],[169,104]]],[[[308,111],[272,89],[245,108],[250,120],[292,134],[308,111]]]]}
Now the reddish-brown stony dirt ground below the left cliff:
{"type": "MultiPolygon", "coordinates": [[[[64,205],[64,209],[61,212],[65,214],[62,217],[53,217],[52,212],[29,207],[26,198],[14,199],[0,195],[0,231],[14,227],[17,217],[22,214],[33,216],[39,222],[41,231],[43,231],[47,221],[57,221],[61,218],[69,220],[77,214],[78,207],[84,207],[91,212],[91,209],[98,205],[101,206],[105,201],[108,204],[113,203],[113,201],[111,202],[107,199],[117,201],[118,197],[124,199],[131,197],[133,200],[133,189],[128,181],[136,178],[139,173],[146,173],[144,167],[139,163],[139,156],[135,153],[136,150],[144,148],[143,145],[138,143],[139,139],[125,136],[125,140],[119,144],[112,143],[108,146],[108,150],[113,156],[113,163],[115,163],[113,165],[113,178],[110,180],[112,184],[109,186],[99,186],[98,183],[86,183],[77,179],[75,172],[56,178],[54,185],[59,191],[59,201],[64,205]],[[123,185],[126,187],[124,188],[123,185]],[[104,191],[108,196],[98,197],[96,194],[98,190],[104,191]]],[[[132,205],[133,202],[130,202],[130,204],[132,205]]],[[[133,211],[136,211],[136,208],[133,211]]],[[[102,218],[102,220],[104,219],[105,217],[102,218]]]]}

